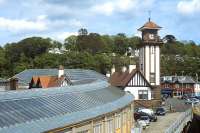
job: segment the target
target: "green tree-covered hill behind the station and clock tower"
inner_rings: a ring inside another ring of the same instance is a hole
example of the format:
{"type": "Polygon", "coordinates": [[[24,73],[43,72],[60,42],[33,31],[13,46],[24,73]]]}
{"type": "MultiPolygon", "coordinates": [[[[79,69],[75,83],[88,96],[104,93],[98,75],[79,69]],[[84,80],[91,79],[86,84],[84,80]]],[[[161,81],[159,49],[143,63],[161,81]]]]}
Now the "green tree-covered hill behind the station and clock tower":
{"type": "MultiPolygon", "coordinates": [[[[200,75],[200,46],[193,41],[177,41],[167,35],[161,47],[161,75],[200,75]]],[[[78,36],[69,36],[64,43],[50,38],[31,37],[0,47],[0,77],[10,77],[30,68],[93,69],[105,74],[114,64],[118,69],[137,57],[128,52],[140,45],[141,39],[117,35],[100,35],[80,29],[78,36]],[[62,54],[49,53],[49,49],[65,47],[62,54]]]]}

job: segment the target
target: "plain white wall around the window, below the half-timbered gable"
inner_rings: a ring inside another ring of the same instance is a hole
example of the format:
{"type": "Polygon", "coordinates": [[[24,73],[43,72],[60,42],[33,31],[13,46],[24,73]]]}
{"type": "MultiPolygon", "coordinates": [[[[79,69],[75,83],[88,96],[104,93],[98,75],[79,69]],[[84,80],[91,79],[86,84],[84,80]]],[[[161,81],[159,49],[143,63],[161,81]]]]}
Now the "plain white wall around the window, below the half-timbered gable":
{"type": "Polygon", "coordinates": [[[131,94],[134,95],[134,100],[139,100],[139,90],[148,90],[148,100],[151,100],[151,88],[150,87],[126,87],[125,91],[129,91],[131,94]]]}

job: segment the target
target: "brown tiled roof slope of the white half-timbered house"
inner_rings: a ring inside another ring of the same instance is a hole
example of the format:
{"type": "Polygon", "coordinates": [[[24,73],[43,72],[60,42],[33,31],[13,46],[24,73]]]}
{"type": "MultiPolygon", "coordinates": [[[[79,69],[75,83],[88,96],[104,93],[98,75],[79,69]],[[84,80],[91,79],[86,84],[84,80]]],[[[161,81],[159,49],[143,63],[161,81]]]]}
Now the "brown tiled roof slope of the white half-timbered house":
{"type": "Polygon", "coordinates": [[[113,86],[125,87],[136,72],[136,69],[132,70],[131,73],[129,73],[128,70],[126,72],[114,72],[111,75],[109,82],[113,86]]]}

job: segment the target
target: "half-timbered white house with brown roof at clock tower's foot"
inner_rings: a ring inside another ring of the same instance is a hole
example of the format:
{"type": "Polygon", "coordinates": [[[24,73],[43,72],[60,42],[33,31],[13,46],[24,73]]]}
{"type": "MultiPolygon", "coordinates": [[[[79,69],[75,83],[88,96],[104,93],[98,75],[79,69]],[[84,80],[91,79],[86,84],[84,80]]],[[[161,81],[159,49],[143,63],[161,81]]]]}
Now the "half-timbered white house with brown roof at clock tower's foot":
{"type": "Polygon", "coordinates": [[[112,73],[110,83],[125,91],[132,93],[135,100],[151,100],[154,98],[152,87],[135,65],[129,69],[112,73]]]}

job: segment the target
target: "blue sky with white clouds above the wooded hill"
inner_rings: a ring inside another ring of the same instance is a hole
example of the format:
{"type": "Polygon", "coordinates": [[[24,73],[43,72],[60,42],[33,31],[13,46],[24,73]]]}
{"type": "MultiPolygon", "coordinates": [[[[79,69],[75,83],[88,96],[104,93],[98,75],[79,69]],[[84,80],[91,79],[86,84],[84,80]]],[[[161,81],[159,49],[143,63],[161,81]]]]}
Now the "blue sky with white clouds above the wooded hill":
{"type": "Polygon", "coordinates": [[[200,43],[200,0],[0,0],[0,45],[32,36],[62,42],[80,28],[139,35],[149,11],[161,37],[200,43]]]}

